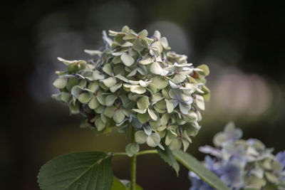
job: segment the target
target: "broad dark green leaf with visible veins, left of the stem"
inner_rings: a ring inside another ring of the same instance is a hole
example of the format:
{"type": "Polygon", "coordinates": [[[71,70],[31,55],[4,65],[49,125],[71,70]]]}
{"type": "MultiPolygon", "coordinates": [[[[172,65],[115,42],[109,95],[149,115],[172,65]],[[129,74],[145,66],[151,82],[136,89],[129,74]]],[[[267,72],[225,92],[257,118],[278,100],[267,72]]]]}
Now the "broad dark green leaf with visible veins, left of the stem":
{"type": "Polygon", "coordinates": [[[111,159],[103,152],[61,155],[41,167],[38,184],[44,190],[110,190],[113,184],[111,159]]]}

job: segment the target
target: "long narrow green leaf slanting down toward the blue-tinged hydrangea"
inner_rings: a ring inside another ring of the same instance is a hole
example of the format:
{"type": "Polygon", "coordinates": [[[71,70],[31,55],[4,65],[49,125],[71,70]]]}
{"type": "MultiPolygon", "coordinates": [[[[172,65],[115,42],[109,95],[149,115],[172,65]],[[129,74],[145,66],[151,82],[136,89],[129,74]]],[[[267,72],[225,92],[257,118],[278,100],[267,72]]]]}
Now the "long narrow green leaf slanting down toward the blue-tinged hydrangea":
{"type": "Polygon", "coordinates": [[[183,152],[182,150],[175,150],[173,154],[178,162],[187,167],[187,169],[193,171],[210,186],[218,190],[229,190],[229,187],[227,187],[227,185],[225,185],[218,176],[204,167],[204,165],[195,157],[192,157],[192,155],[187,154],[187,152],[183,152]]]}

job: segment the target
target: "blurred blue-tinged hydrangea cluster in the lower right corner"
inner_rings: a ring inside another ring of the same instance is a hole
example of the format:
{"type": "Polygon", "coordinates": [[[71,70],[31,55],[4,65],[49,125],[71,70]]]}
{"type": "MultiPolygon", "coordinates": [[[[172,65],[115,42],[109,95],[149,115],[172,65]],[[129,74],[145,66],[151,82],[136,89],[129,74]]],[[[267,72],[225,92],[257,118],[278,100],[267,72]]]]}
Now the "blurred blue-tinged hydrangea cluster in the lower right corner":
{"type": "MultiPolygon", "coordinates": [[[[258,139],[244,140],[242,130],[229,122],[223,132],[214,136],[214,147],[200,147],[207,155],[204,164],[230,189],[285,189],[285,151],[272,154],[258,139]]],[[[190,190],[213,189],[189,172],[190,190]]]]}

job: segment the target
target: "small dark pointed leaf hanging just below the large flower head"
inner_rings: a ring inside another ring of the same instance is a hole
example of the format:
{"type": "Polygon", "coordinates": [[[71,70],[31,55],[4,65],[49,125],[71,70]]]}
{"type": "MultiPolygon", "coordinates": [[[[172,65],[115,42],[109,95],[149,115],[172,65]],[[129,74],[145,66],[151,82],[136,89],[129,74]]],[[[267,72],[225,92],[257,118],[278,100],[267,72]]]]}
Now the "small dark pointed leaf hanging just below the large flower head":
{"type": "Polygon", "coordinates": [[[157,152],[160,155],[160,157],[170,165],[173,169],[175,169],[176,174],[178,176],[180,166],[178,162],[176,161],[175,157],[173,156],[172,150],[165,146],[165,150],[160,149],[159,147],[157,148],[157,152]]]}

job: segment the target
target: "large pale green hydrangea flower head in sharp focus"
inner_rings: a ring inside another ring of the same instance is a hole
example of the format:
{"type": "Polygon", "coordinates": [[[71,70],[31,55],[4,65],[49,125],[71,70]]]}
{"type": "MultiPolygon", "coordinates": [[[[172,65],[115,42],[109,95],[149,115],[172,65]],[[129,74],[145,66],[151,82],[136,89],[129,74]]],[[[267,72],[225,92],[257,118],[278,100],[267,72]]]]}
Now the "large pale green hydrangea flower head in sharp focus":
{"type": "Polygon", "coordinates": [[[58,58],[67,70],[57,71],[53,83],[60,90],[53,97],[85,118],[81,127],[97,133],[135,127],[136,143],[126,148],[130,156],[144,143],[186,150],[209,99],[207,65],[194,68],[187,56],[170,51],[159,31],[147,35],[128,26],[109,31],[110,37],[103,31],[103,51],[86,50],[92,56],[87,61],[58,58]]]}

